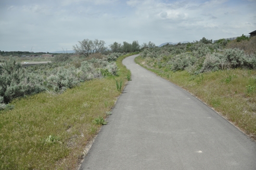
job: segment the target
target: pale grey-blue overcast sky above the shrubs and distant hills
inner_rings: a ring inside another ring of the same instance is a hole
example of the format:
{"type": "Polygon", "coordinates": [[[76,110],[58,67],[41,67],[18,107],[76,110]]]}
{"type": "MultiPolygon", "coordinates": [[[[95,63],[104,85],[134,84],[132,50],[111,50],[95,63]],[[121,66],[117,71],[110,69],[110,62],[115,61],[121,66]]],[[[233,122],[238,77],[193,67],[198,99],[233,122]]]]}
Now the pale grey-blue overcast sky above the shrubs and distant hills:
{"type": "Polygon", "coordinates": [[[256,30],[256,0],[0,0],[0,50],[47,52],[86,38],[193,42],[256,30]]]}

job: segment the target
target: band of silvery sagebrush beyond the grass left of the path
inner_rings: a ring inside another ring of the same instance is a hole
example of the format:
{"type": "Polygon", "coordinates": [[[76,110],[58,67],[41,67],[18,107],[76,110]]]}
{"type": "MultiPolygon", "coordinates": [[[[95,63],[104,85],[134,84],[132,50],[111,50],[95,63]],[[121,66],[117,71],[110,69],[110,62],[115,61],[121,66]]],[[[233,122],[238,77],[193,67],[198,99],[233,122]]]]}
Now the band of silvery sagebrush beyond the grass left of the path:
{"type": "MultiPolygon", "coordinates": [[[[68,54],[54,59],[53,63],[24,69],[15,58],[7,60],[0,66],[0,108],[3,110],[11,100],[17,97],[33,95],[44,90],[62,93],[95,78],[116,75],[116,62],[108,61],[104,55],[98,58],[71,61],[68,54]],[[103,57],[103,58],[101,58],[103,57]]],[[[113,54],[115,58],[121,53],[113,54]]]]}

